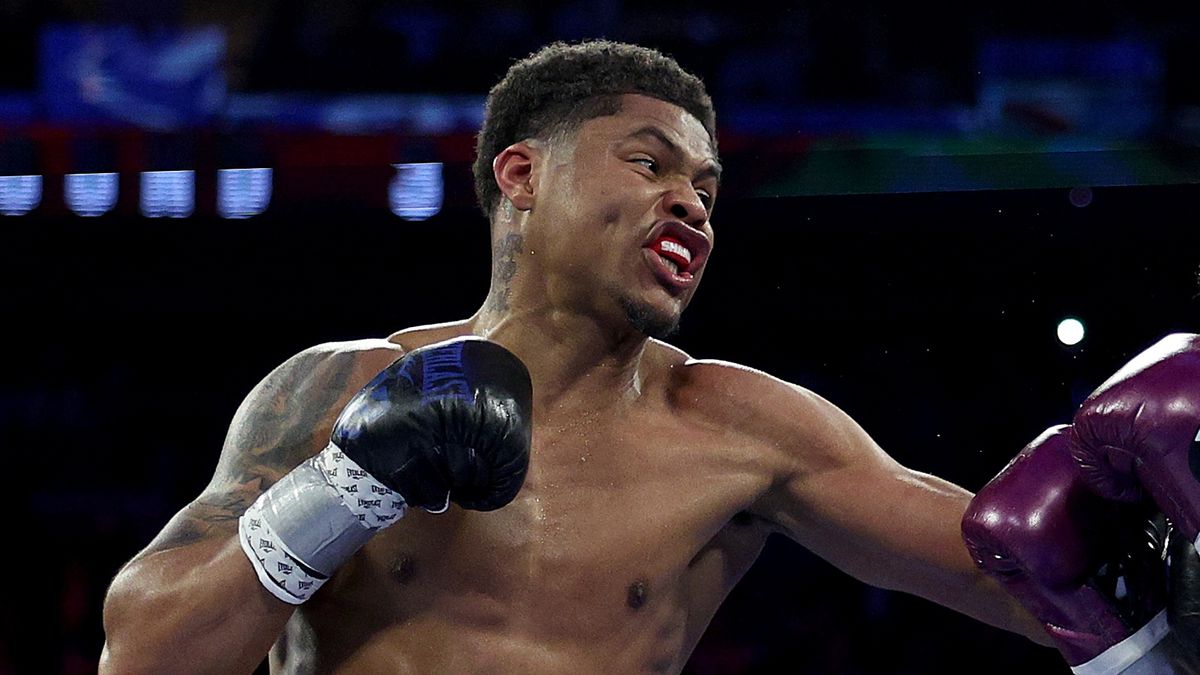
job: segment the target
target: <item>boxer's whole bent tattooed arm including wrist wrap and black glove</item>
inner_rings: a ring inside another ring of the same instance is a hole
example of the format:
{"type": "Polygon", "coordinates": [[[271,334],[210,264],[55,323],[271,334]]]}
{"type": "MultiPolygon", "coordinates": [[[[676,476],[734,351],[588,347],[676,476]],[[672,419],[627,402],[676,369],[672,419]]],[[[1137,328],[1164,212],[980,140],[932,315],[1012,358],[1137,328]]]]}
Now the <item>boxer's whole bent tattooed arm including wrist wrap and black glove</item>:
{"type": "Polygon", "coordinates": [[[292,608],[409,506],[512,501],[532,437],[521,359],[478,338],[398,359],[366,345],[350,364],[289,362],[251,394],[212,484],[114,581],[106,668],[250,671],[292,608]],[[374,377],[348,396],[364,368],[374,377]]]}

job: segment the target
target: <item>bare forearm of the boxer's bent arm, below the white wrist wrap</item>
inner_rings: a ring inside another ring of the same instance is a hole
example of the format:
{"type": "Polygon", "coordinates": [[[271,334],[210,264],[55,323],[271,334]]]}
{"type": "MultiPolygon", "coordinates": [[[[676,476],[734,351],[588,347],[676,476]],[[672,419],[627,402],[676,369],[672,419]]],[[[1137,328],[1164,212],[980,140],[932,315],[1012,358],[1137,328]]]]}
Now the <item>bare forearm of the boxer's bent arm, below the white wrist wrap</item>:
{"type": "Polygon", "coordinates": [[[104,602],[101,673],[251,673],[295,608],[259,583],[236,536],[149,552],[104,602]]]}

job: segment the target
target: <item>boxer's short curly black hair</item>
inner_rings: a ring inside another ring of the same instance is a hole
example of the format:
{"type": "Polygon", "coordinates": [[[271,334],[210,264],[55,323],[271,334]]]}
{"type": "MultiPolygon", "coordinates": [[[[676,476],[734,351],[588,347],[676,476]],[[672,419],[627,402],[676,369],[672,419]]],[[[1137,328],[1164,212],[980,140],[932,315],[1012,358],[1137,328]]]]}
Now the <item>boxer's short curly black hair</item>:
{"type": "Polygon", "coordinates": [[[475,144],[475,197],[491,219],[500,203],[492,161],[509,145],[548,138],[620,110],[623,94],[644,94],[691,113],[716,149],[716,114],[698,77],[662,53],[607,40],[554,42],[517,61],[487,95],[475,144]]]}

